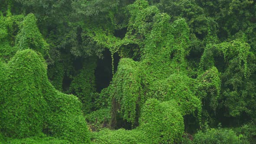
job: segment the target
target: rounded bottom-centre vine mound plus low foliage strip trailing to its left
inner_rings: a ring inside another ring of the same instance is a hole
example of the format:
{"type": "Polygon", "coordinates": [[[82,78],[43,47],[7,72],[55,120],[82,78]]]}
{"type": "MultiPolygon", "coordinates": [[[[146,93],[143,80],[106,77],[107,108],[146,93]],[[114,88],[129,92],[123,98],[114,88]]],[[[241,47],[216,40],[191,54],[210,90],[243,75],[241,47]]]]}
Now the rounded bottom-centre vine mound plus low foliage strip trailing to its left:
{"type": "Polygon", "coordinates": [[[184,131],[184,122],[177,107],[178,105],[174,101],[161,103],[157,99],[149,99],[141,110],[137,128],[130,131],[105,129],[93,133],[92,141],[96,144],[159,144],[173,143],[174,140],[180,141],[184,131]]]}

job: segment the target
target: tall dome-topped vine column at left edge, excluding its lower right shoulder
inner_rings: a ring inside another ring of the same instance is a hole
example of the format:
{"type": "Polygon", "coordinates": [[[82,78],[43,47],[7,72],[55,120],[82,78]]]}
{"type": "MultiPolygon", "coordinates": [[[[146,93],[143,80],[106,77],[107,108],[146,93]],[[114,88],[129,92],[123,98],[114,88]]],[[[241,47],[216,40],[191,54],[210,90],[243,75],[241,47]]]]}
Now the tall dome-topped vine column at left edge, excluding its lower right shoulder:
{"type": "Polygon", "coordinates": [[[43,130],[45,66],[35,52],[28,50],[17,52],[8,62],[4,72],[7,78],[2,81],[5,85],[1,88],[1,124],[5,135],[20,138],[34,136],[43,130]]]}

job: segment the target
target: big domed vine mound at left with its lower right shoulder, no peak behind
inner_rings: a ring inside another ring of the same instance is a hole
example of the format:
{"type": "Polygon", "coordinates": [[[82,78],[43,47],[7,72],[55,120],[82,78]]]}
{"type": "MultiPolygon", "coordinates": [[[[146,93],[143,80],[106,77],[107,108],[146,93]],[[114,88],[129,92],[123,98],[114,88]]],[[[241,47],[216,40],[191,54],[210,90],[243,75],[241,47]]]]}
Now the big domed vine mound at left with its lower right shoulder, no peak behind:
{"type": "Polygon", "coordinates": [[[16,52],[1,77],[2,134],[26,138],[42,132],[72,143],[88,143],[89,131],[74,95],[57,91],[46,74],[46,63],[31,49],[16,52]]]}

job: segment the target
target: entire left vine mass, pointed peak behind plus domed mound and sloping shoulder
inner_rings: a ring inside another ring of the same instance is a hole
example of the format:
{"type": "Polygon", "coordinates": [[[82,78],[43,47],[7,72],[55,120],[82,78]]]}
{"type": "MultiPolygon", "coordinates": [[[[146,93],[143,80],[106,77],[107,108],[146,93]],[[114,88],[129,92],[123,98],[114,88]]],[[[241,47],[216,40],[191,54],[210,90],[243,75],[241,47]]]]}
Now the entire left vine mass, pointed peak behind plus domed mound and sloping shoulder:
{"type": "Polygon", "coordinates": [[[49,82],[44,59],[49,56],[49,45],[36,26],[36,17],[23,17],[0,19],[1,139],[47,134],[72,143],[88,143],[81,102],[74,95],[57,91],[49,82]]]}

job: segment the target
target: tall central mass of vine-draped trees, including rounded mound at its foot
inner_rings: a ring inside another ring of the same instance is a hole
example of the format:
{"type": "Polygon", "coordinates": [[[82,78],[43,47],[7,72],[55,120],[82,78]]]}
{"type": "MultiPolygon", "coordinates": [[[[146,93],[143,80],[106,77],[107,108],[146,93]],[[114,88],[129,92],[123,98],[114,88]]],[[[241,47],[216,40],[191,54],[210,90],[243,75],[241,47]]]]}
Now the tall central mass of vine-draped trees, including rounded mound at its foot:
{"type": "MultiPolygon", "coordinates": [[[[144,0],[137,0],[128,8],[131,18],[121,41],[129,39],[130,44],[138,43],[141,60],[123,58],[119,62],[109,86],[112,127],[115,128],[116,118],[121,117],[131,122],[135,128],[131,131],[144,131],[145,137],[152,137],[151,143],[181,141],[182,116],[197,113],[198,118],[201,117],[202,97],[197,96],[200,86],[186,73],[189,28],[184,19],[169,23],[169,15],[160,13],[157,7],[150,7],[144,0]]],[[[213,79],[217,77],[214,75],[213,79]]],[[[217,85],[216,88],[220,85],[220,81],[208,82],[217,85]]],[[[206,94],[211,88],[204,88],[206,94]]],[[[108,134],[115,134],[115,131],[108,134]]],[[[99,134],[92,141],[103,137],[99,134]]]]}

